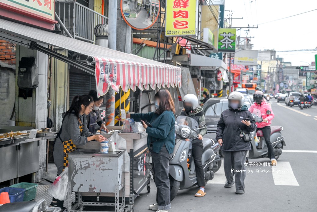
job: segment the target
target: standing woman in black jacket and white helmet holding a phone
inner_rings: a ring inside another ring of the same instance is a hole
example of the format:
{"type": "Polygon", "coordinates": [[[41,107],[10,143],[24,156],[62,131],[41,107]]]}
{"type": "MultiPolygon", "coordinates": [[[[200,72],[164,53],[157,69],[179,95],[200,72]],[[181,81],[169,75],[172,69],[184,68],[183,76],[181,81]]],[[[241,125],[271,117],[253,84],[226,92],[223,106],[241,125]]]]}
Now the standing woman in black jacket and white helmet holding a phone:
{"type": "Polygon", "coordinates": [[[251,150],[250,141],[245,141],[244,135],[256,130],[255,120],[243,102],[244,96],[240,92],[234,91],[229,95],[229,109],[221,114],[216,132],[224,154],[223,167],[227,178],[224,187],[232,187],[235,175],[236,194],[244,194],[244,163],[247,151],[251,150]]]}

